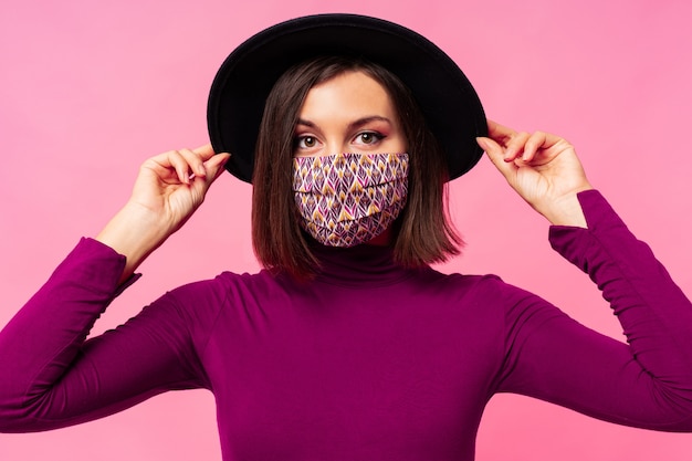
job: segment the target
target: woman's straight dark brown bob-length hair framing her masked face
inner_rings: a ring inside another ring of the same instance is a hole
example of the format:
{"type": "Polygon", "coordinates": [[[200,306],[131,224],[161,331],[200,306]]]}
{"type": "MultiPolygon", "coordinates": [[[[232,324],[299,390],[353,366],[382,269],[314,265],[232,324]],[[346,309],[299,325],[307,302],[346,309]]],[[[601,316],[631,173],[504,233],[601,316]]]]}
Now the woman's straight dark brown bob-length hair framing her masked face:
{"type": "Polygon", "coordinates": [[[301,229],[292,192],[294,130],[307,92],[345,72],[380,83],[395,105],[409,154],[407,205],[394,224],[394,256],[406,266],[459,254],[461,237],[447,213],[447,160],[406,85],[382,66],[352,57],[318,57],[291,67],[274,84],[264,107],[252,177],[252,242],[260,262],[297,279],[319,262],[301,229]]]}

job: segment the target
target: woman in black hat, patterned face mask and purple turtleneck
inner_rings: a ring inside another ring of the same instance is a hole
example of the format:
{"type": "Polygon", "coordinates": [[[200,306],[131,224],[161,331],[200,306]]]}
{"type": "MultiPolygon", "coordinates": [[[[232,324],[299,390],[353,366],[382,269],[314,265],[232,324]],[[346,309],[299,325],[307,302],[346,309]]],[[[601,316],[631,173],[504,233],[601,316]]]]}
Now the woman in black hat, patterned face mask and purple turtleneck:
{"type": "Polygon", "coordinates": [[[451,60],[395,24],[310,17],[250,39],[212,87],[214,148],[147,160],[126,206],[3,329],[0,429],[207,388],[229,460],[471,460],[496,392],[692,430],[690,302],[567,142],[485,124],[451,60]],[[444,181],[481,149],[604,290],[629,345],[495,276],[429,268],[461,244],[444,181]],[[84,342],[224,166],[253,184],[266,270],[181,286],[84,342]]]}

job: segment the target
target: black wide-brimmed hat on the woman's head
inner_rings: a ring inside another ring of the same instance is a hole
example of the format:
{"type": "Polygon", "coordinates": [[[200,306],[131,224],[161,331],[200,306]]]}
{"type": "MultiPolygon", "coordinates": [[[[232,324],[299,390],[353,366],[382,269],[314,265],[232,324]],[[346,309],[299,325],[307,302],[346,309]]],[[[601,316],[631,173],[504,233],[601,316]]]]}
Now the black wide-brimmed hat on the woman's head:
{"type": "Polygon", "coordinates": [[[481,102],[459,66],[431,41],[399,24],[358,14],[292,19],[248,39],[226,59],[211,86],[207,122],[217,153],[231,153],[226,168],[251,182],[264,104],[289,67],[317,56],[346,55],[375,62],[397,75],[420,106],[449,166],[449,179],[469,171],[487,135],[481,102]]]}

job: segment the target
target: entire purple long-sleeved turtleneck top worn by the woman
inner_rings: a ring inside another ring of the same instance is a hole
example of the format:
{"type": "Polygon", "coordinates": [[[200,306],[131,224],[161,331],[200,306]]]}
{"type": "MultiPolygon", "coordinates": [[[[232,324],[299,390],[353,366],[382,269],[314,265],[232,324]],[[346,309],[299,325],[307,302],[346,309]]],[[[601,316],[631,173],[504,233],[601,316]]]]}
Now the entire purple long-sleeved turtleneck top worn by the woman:
{"type": "Polygon", "coordinates": [[[692,307],[597,191],[589,229],[551,228],[628,344],[494,275],[323,248],[296,284],[220,274],[84,342],[124,259],[85,239],[0,334],[0,429],[36,431],[207,388],[224,460],[472,460],[486,401],[518,392],[605,420],[692,430],[692,307]]]}

